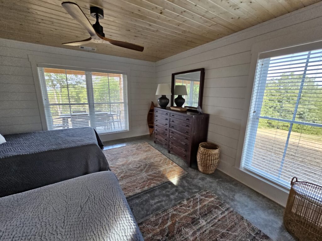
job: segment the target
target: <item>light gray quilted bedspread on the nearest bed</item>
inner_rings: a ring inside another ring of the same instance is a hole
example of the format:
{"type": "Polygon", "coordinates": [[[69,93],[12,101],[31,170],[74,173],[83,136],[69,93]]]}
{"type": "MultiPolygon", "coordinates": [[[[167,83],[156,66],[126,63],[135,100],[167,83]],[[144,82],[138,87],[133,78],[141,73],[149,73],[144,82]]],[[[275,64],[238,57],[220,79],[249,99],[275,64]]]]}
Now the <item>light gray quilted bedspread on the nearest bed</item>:
{"type": "Polygon", "coordinates": [[[0,241],[143,240],[116,176],[99,172],[0,198],[0,241]]]}

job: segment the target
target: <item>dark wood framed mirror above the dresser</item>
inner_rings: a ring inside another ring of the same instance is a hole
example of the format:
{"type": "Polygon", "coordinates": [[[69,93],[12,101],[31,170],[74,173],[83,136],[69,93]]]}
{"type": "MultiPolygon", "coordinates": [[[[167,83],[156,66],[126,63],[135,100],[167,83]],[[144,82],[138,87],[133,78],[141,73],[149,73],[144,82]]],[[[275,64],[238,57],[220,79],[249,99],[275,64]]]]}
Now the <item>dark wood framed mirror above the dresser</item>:
{"type": "Polygon", "coordinates": [[[204,92],[204,68],[172,74],[171,106],[188,109],[202,108],[204,92]]]}

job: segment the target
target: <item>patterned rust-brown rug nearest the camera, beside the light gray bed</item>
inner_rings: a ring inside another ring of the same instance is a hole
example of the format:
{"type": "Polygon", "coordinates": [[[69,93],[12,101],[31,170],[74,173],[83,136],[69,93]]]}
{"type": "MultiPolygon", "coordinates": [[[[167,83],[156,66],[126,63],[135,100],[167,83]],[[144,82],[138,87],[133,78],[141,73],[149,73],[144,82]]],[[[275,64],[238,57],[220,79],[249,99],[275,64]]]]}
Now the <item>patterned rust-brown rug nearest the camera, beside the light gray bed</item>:
{"type": "Polygon", "coordinates": [[[145,241],[272,241],[208,190],[152,214],[139,228],[145,241]]]}

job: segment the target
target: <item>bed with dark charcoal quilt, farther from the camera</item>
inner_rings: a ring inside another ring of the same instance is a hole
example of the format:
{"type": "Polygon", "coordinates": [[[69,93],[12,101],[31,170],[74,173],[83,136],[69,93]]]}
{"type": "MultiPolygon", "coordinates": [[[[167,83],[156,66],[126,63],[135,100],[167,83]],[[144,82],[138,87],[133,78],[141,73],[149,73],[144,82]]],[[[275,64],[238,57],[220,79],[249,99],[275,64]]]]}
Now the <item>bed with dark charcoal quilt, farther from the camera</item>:
{"type": "Polygon", "coordinates": [[[109,170],[103,143],[91,127],[4,136],[0,197],[109,170]]]}

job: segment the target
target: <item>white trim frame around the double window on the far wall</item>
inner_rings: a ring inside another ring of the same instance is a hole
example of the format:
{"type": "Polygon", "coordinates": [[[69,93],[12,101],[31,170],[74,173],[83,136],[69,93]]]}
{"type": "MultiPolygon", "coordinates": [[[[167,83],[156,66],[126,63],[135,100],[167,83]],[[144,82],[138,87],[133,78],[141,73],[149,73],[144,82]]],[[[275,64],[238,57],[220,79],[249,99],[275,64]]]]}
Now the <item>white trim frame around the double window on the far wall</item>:
{"type": "MultiPolygon", "coordinates": [[[[28,59],[31,63],[32,67],[32,74],[35,84],[35,90],[37,95],[37,102],[40,112],[40,119],[42,124],[43,130],[48,130],[46,115],[45,115],[45,108],[43,104],[43,97],[42,91],[40,86],[40,79],[38,76],[38,67],[45,67],[45,68],[58,68],[58,69],[70,69],[70,70],[81,70],[87,72],[101,72],[101,73],[121,73],[127,75],[127,102],[128,102],[128,130],[124,131],[116,131],[116,132],[109,132],[105,134],[99,134],[101,137],[112,135],[114,133],[122,133],[122,132],[130,132],[132,131],[132,120],[131,120],[131,93],[130,93],[130,85],[131,85],[131,71],[130,68],[127,66],[122,65],[111,65],[110,63],[114,63],[112,61],[104,61],[101,60],[100,62],[96,62],[97,60],[90,59],[90,58],[77,58],[72,57],[69,58],[55,58],[55,57],[47,57],[47,56],[36,56],[36,55],[28,55],[28,59]],[[79,60],[82,59],[83,61],[79,60]],[[86,61],[85,61],[85,60],[86,61]]],[[[106,139],[106,138],[103,138],[106,139]]]]}

